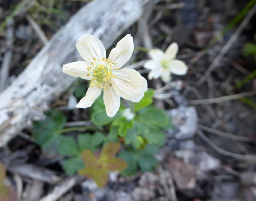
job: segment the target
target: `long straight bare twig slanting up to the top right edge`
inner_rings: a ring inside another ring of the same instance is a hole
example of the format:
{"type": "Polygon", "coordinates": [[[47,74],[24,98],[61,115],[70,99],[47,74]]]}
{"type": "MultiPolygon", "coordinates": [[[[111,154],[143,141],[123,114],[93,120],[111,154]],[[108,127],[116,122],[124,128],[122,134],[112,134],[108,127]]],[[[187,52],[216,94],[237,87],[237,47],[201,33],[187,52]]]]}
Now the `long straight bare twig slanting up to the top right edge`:
{"type": "Polygon", "coordinates": [[[244,18],[238,29],[235,31],[233,36],[229,39],[229,41],[226,43],[226,45],[223,47],[223,49],[220,51],[218,56],[214,59],[213,63],[210,65],[210,67],[207,69],[205,74],[200,78],[200,80],[196,83],[197,86],[200,86],[211,74],[211,72],[215,69],[215,67],[219,64],[223,56],[226,54],[226,52],[229,50],[229,48],[233,45],[237,37],[241,34],[242,30],[245,28],[245,26],[248,24],[254,13],[256,12],[256,4],[252,7],[248,15],[244,18]]]}

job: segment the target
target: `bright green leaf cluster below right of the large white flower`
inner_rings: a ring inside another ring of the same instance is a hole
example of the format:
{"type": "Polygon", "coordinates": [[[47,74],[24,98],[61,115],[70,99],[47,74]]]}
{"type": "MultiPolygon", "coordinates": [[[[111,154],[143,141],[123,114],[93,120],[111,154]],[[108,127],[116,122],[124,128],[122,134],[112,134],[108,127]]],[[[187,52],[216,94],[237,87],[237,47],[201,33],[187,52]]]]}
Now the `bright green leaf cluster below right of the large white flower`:
{"type": "Polygon", "coordinates": [[[134,118],[122,116],[115,119],[110,127],[113,139],[123,138],[125,144],[141,148],[145,144],[162,146],[166,136],[161,129],[172,128],[171,119],[163,110],[154,108],[152,97],[154,90],[149,89],[139,103],[134,105],[134,118]]]}

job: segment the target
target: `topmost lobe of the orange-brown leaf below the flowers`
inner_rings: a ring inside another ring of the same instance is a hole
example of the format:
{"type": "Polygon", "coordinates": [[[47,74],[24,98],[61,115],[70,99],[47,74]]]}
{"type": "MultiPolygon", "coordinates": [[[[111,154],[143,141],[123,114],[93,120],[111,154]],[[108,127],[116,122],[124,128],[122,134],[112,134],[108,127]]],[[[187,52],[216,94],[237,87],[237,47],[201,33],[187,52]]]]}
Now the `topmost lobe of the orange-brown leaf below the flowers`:
{"type": "Polygon", "coordinates": [[[100,160],[106,161],[114,157],[114,155],[119,151],[121,143],[109,142],[104,147],[100,154],[100,160]]]}

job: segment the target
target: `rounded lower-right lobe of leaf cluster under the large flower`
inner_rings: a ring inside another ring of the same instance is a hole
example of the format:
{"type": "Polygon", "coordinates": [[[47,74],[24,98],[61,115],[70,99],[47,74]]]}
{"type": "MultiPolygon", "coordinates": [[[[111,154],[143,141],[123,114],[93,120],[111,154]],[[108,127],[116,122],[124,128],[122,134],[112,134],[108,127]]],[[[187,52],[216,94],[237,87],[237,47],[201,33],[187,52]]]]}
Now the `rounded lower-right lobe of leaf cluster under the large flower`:
{"type": "Polygon", "coordinates": [[[156,144],[158,146],[163,146],[166,140],[165,134],[157,127],[151,126],[149,129],[145,130],[146,139],[150,144],[156,144]]]}

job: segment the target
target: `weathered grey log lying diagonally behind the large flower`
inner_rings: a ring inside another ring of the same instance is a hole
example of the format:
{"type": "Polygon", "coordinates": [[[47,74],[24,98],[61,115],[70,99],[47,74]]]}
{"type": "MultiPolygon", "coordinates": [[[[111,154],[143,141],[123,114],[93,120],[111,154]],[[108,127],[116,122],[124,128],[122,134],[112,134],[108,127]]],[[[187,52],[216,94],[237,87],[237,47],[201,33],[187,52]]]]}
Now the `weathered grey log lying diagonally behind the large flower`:
{"type": "Polygon", "coordinates": [[[32,121],[42,119],[51,100],[75,80],[62,73],[62,65],[82,60],[75,49],[81,35],[93,34],[108,48],[158,1],[94,0],[78,11],[0,94],[0,147],[32,121]]]}

